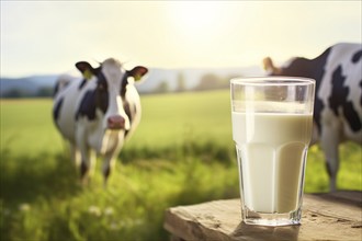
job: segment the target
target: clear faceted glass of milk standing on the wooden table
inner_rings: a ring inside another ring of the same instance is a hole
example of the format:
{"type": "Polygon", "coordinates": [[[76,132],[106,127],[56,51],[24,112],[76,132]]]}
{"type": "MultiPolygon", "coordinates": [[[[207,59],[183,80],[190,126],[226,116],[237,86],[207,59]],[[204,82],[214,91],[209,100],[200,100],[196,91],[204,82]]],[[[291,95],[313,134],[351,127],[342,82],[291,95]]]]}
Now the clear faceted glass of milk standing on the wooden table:
{"type": "Polygon", "coordinates": [[[315,80],[237,78],[230,92],[242,220],[299,223],[315,80]]]}

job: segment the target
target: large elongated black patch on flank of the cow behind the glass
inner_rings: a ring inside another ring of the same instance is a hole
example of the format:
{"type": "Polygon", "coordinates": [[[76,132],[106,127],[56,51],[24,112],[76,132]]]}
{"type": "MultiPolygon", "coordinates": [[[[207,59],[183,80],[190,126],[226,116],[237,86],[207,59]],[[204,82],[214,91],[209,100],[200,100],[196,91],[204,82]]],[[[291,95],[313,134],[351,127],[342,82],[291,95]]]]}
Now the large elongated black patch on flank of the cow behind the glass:
{"type": "Polygon", "coordinates": [[[353,131],[357,131],[362,128],[362,124],[357,111],[353,108],[353,104],[347,101],[349,88],[343,85],[344,80],[346,77],[342,74],[342,67],[339,66],[332,73],[332,90],[331,95],[328,99],[329,106],[336,116],[339,116],[338,108],[342,107],[343,116],[347,119],[349,126],[353,131]]]}

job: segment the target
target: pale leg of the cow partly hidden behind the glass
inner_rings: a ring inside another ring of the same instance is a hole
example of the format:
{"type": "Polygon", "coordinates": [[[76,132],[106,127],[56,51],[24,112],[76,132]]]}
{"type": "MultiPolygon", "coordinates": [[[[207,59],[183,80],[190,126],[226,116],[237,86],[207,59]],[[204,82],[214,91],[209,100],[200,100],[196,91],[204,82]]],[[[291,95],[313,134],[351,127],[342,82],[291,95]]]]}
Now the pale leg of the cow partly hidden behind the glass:
{"type": "Polygon", "coordinates": [[[337,188],[337,172],[339,168],[339,131],[338,128],[324,127],[320,139],[321,149],[325,152],[326,167],[329,175],[329,190],[335,192],[337,188]]]}

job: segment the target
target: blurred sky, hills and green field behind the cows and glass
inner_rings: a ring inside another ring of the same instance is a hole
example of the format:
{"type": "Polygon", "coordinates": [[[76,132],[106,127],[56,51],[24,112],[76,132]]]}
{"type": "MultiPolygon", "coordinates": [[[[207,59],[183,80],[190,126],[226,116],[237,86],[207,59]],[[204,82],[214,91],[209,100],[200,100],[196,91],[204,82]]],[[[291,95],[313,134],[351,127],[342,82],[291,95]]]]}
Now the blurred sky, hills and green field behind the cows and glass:
{"type": "MultiPolygon", "coordinates": [[[[1,240],[168,240],[163,211],[238,198],[229,79],[362,43],[361,1],[1,1],[1,240]],[[52,120],[75,64],[143,65],[143,118],[109,187],[78,184],[52,120]]],[[[341,147],[338,188],[362,190],[361,147],[341,147]]],[[[327,192],[318,145],[305,192],[327,192]]]]}

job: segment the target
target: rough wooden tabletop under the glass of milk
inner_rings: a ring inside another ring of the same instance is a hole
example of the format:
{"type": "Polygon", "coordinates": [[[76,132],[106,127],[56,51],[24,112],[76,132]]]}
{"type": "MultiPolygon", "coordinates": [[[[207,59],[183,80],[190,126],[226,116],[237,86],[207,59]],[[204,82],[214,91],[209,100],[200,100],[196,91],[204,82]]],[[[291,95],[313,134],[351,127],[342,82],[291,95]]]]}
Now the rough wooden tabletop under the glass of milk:
{"type": "Polygon", "coordinates": [[[249,226],[240,199],[214,200],[166,210],[172,240],[358,240],[362,241],[362,192],[305,194],[302,225],[249,226]]]}

